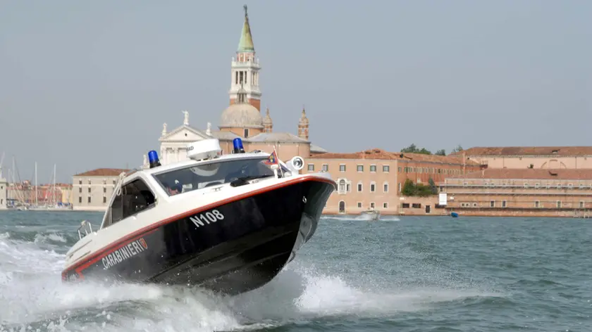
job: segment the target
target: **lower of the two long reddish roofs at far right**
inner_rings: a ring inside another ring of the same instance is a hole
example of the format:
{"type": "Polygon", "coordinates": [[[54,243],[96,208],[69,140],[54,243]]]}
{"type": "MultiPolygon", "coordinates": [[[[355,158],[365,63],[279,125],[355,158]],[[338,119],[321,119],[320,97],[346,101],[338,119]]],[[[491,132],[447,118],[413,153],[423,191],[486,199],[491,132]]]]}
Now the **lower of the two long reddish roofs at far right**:
{"type": "Polygon", "coordinates": [[[531,168],[488,168],[467,174],[453,175],[448,179],[557,179],[591,180],[592,169],[581,170],[545,170],[531,168]]]}

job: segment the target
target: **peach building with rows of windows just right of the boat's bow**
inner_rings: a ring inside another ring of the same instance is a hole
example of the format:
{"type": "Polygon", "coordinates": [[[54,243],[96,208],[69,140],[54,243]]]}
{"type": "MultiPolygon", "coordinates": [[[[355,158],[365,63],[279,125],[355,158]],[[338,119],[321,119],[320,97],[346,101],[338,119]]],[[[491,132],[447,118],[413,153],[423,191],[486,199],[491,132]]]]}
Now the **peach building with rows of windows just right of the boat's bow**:
{"type": "MultiPolygon", "coordinates": [[[[409,206],[416,200],[426,201],[401,197],[405,180],[428,184],[431,178],[438,184],[452,174],[474,172],[480,167],[456,156],[392,153],[378,148],[356,153],[321,153],[305,158],[304,163],[303,172],[329,172],[338,184],[323,213],[352,215],[368,208],[376,208],[383,215],[399,214],[403,212],[403,200],[409,206]]],[[[437,196],[430,201],[437,202],[437,196]]],[[[426,209],[425,203],[422,204],[422,209],[426,209]]],[[[434,205],[428,205],[429,214],[434,205]]]]}

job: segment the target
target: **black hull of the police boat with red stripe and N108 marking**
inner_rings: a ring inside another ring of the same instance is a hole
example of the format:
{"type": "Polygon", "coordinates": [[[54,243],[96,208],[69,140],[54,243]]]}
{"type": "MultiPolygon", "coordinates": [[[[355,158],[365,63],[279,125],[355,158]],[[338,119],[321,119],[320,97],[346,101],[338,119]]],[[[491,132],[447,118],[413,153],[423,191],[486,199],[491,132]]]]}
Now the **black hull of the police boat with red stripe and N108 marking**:
{"type": "Polygon", "coordinates": [[[334,182],[300,178],[156,223],[62,273],[202,286],[228,294],[273,279],[316,231],[334,182]]]}

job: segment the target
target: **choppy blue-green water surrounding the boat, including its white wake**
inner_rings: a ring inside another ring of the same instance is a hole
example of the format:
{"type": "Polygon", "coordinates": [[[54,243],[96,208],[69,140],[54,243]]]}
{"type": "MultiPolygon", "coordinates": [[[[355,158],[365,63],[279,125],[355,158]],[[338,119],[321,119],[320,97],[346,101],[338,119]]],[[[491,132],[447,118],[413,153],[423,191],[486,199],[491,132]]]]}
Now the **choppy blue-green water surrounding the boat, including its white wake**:
{"type": "Polygon", "coordinates": [[[323,218],[234,298],[62,284],[81,219],[0,212],[0,331],[592,331],[592,219],[323,218]]]}

